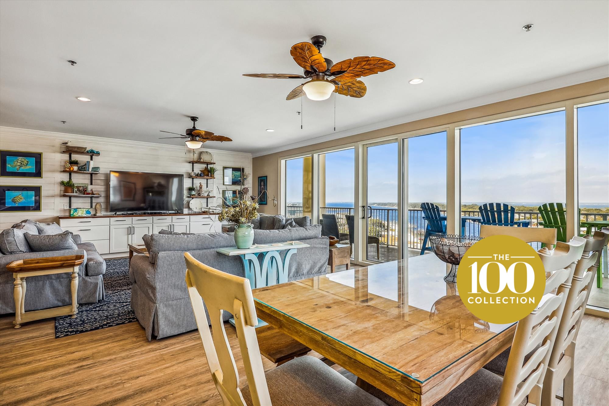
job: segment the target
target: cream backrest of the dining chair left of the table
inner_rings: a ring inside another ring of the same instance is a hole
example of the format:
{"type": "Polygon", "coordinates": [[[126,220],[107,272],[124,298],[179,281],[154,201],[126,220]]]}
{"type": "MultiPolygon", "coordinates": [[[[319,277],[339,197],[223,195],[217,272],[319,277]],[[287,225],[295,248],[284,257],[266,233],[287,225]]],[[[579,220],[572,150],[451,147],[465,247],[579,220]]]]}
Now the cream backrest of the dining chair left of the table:
{"type": "Polygon", "coordinates": [[[203,341],[203,349],[214,383],[224,404],[245,405],[239,389],[239,374],[233,352],[222,321],[222,311],[234,315],[239,348],[245,367],[245,376],[252,394],[252,402],[270,405],[269,388],[256,338],[258,322],[250,281],[227,274],[197,261],[191,254],[186,257],[186,286],[195,314],[197,329],[203,341]],[[212,330],[210,332],[203,301],[208,309],[212,330]]]}

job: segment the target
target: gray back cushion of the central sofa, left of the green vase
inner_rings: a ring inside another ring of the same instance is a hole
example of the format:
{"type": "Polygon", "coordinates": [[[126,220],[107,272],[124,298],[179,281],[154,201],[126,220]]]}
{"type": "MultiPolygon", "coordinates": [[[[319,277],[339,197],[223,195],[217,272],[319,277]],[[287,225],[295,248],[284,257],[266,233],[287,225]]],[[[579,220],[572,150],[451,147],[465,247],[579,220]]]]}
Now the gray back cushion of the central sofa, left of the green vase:
{"type": "MultiPolygon", "coordinates": [[[[144,239],[146,243],[146,239],[144,239]]],[[[194,251],[234,246],[233,233],[150,235],[150,263],[157,262],[157,255],[164,251],[194,251]]]]}

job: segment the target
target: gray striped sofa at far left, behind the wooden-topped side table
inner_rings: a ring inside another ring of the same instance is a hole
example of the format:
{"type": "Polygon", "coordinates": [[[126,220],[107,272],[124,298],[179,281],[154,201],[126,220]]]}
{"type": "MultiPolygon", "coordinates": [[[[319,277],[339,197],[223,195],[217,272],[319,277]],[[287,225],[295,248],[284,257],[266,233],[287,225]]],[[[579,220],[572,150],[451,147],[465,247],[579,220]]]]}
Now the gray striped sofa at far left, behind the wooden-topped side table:
{"type": "MultiPolygon", "coordinates": [[[[12,228],[22,227],[22,223],[14,224],[12,228]]],[[[35,223],[31,222],[30,223],[35,223]]],[[[35,233],[30,227],[28,232],[35,233]]],[[[13,274],[6,271],[11,262],[29,258],[60,257],[62,255],[84,255],[85,262],[79,269],[79,287],[77,301],[96,303],[104,299],[104,273],[106,263],[97,253],[92,243],[83,243],[80,235],[73,235],[72,240],[77,249],[44,252],[20,252],[4,254],[0,252],[0,315],[15,312],[13,299],[13,274]]],[[[26,248],[27,250],[27,248],[26,248]]],[[[66,306],[71,304],[70,275],[55,274],[32,276],[27,279],[26,312],[43,308],[66,306]]]]}

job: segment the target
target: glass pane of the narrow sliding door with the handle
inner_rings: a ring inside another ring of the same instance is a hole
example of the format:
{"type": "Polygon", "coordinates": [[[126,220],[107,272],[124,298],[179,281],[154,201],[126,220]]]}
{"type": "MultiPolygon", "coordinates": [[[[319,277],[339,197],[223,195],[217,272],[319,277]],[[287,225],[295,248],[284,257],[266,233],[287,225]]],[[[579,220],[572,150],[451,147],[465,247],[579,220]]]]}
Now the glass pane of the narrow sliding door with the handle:
{"type": "MultiPolygon", "coordinates": [[[[363,201],[356,218],[362,225],[360,241],[365,260],[390,262],[398,259],[398,142],[364,147],[363,201]]],[[[361,251],[360,251],[361,252],[361,251]]]]}

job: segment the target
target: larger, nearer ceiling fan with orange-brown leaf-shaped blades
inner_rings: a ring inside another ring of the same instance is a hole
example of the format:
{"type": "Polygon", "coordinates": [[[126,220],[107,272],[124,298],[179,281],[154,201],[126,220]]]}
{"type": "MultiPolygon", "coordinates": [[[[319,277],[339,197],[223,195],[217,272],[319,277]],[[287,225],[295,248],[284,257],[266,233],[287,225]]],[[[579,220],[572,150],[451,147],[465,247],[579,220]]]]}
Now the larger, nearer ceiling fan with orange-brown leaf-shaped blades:
{"type": "Polygon", "coordinates": [[[311,42],[300,42],[292,46],[290,55],[305,70],[304,75],[290,73],[248,73],[243,76],[267,77],[269,79],[311,79],[290,91],[286,100],[299,98],[303,94],[311,100],[325,100],[333,92],[362,98],[366,85],[358,77],[373,75],[395,68],[395,63],[379,57],[354,57],[334,63],[319,52],[326,45],[326,37],[315,35],[311,42]]]}

